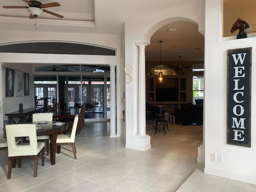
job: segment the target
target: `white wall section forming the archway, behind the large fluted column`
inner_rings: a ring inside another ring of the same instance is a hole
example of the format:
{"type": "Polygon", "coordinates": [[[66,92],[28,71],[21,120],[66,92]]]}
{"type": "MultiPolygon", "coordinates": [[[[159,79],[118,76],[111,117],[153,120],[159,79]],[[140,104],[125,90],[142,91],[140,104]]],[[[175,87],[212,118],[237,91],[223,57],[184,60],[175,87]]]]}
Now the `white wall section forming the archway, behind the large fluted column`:
{"type": "MultiPolygon", "coordinates": [[[[147,139],[135,137],[138,134],[138,47],[137,43],[150,44],[150,37],[162,26],[175,22],[198,23],[199,31],[204,31],[204,0],[190,0],[180,3],[167,12],[146,16],[125,22],[125,64],[133,66],[133,81],[126,83],[126,147],[146,150],[147,139]]],[[[146,101],[145,101],[146,102],[146,101]]],[[[149,140],[150,142],[150,140],[149,140]]]]}

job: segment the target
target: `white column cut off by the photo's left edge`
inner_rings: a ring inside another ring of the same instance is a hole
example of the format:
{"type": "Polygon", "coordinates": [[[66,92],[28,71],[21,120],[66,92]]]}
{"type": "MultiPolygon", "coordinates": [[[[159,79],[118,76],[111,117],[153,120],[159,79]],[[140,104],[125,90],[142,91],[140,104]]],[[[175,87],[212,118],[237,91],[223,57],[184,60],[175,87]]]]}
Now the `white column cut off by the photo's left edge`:
{"type": "Polygon", "coordinates": [[[0,63],[0,139],[4,138],[4,103],[3,103],[3,97],[4,97],[4,76],[3,76],[3,64],[0,63]]]}

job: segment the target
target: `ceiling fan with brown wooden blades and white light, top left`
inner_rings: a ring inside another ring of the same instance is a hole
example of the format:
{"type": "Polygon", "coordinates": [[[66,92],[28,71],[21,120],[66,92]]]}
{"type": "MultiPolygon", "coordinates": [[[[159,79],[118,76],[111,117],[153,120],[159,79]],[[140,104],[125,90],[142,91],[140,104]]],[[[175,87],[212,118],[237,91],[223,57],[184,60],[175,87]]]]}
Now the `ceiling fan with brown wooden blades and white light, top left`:
{"type": "Polygon", "coordinates": [[[25,8],[28,9],[28,12],[30,12],[30,19],[34,19],[37,18],[38,16],[40,16],[41,14],[48,13],[51,14],[53,16],[59,17],[59,18],[63,18],[64,16],[56,14],[54,12],[42,9],[42,8],[49,8],[49,7],[57,7],[60,6],[59,3],[57,2],[53,2],[53,3],[46,3],[46,4],[42,4],[40,1],[36,1],[36,0],[23,0],[24,2],[26,2],[28,4],[28,6],[3,6],[3,8],[6,9],[13,9],[13,8],[25,8]]]}

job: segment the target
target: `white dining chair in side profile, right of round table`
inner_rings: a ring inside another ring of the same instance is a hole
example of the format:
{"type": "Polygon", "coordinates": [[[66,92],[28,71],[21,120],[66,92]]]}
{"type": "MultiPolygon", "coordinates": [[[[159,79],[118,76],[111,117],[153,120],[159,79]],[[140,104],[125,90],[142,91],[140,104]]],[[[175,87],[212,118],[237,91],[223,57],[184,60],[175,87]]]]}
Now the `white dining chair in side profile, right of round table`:
{"type": "Polygon", "coordinates": [[[72,151],[74,154],[74,158],[76,159],[76,145],[75,145],[75,136],[76,136],[76,128],[78,124],[78,115],[75,115],[74,123],[72,127],[71,134],[58,134],[56,144],[57,144],[57,153],[60,153],[61,145],[71,145],[72,151]]]}

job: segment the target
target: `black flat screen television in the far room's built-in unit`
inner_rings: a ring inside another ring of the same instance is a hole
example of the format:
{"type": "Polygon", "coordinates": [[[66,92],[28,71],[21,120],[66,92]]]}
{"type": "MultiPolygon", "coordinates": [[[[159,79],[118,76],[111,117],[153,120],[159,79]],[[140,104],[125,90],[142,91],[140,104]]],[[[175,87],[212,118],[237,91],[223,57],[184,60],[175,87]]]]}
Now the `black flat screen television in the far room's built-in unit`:
{"type": "Polygon", "coordinates": [[[156,101],[178,101],[178,89],[156,88],[156,101]]]}

